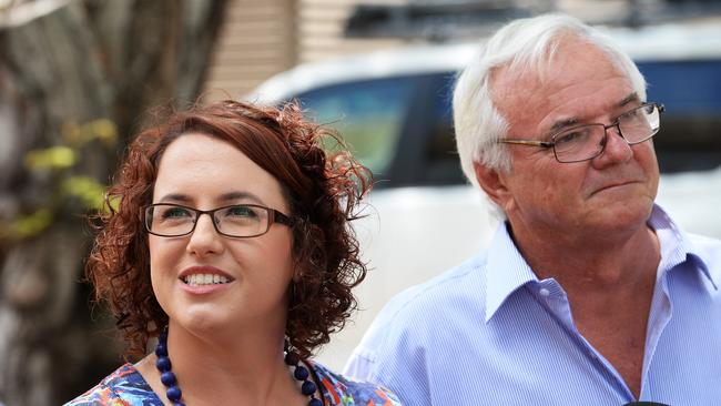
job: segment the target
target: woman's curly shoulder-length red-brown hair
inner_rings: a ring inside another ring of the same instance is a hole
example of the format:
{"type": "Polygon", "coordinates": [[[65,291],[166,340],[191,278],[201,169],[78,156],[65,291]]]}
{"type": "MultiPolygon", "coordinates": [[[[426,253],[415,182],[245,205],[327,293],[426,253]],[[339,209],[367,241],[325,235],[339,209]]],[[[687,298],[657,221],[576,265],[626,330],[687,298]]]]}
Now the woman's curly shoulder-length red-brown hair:
{"type": "Polygon", "coordinates": [[[148,234],[142,209],[152,203],[160,159],[179,136],[204,133],[224,140],[283,185],[291,203],[295,286],[291,288],[286,335],[307,357],[343,327],[356,301],[351,290],[366,266],[349,221],[370,189],[370,173],[344,148],[329,153],[329,129],[304,119],[296,103],[280,108],[222,101],[175,113],[163,125],[142,131],[129,148],[105,196],[106,213],[85,273],[95,298],[106,301],[129,342],[126,356],[144,355],[150,337],[167,324],[153,295],[148,234]]]}

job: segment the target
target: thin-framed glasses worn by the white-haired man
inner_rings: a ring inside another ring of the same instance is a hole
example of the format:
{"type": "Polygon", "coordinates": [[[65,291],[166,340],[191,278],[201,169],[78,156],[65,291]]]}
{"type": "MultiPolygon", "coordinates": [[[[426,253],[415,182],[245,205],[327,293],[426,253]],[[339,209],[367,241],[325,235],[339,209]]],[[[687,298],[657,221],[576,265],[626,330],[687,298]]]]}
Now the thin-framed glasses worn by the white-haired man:
{"type": "Polygon", "coordinates": [[[552,148],[556,160],[562,163],[592,160],[600,155],[608,142],[608,129],[616,128],[623,141],[636,145],[650,140],[661,128],[663,104],[644,103],[621,114],[612,123],[576,125],[551,135],[551,141],[500,139],[505,144],[552,148]]]}

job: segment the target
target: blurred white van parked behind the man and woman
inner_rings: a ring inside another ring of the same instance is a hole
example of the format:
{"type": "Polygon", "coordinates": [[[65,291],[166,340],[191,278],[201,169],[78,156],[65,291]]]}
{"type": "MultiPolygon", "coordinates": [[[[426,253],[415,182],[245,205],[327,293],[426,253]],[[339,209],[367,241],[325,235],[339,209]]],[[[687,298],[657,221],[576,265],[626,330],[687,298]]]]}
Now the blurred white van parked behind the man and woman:
{"type": "MultiPolygon", "coordinates": [[[[658,202],[687,230],[721,238],[721,26],[611,32],[667,112],[654,144],[658,202]]],[[[451,129],[456,72],[475,44],[353,55],[281,73],[250,100],[298,99],[335,126],[376,177],[369,216],[356,224],[372,271],[360,311],[318,359],[339,369],[387,300],[476,254],[496,220],[464,180],[451,129]]]]}

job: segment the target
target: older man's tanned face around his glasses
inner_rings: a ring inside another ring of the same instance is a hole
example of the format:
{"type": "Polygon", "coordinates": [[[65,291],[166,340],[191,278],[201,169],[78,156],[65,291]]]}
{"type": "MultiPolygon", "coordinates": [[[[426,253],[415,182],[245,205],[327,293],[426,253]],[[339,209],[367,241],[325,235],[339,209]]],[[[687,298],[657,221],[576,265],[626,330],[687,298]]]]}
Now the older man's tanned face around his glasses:
{"type": "MultiPolygon", "coordinates": [[[[641,103],[609,57],[575,39],[559,47],[545,77],[499,70],[491,87],[514,139],[550,141],[571,125],[609,124],[641,103]]],[[[607,131],[603,153],[577,163],[556,161],[552,149],[508,146],[512,170],[499,175],[504,193],[497,203],[515,232],[544,238],[589,232],[612,237],[646,223],[659,179],[653,144],[629,146],[616,128],[607,131]]]]}

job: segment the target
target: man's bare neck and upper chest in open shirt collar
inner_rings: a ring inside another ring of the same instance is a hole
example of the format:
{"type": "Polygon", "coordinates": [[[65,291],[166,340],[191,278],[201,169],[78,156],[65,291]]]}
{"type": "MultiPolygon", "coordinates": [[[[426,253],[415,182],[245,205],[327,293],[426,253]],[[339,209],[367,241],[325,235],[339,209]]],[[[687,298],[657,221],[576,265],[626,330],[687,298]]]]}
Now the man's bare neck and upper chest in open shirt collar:
{"type": "Polygon", "coordinates": [[[528,244],[514,234],[516,245],[539,280],[554,277],[566,291],[579,333],[619,372],[639,396],[647,324],[651,308],[660,246],[647,225],[628,238],[549,238],[552,246],[528,244]],[[580,244],[560,244],[578,241],[580,244]]]}

